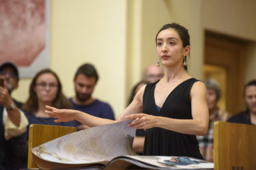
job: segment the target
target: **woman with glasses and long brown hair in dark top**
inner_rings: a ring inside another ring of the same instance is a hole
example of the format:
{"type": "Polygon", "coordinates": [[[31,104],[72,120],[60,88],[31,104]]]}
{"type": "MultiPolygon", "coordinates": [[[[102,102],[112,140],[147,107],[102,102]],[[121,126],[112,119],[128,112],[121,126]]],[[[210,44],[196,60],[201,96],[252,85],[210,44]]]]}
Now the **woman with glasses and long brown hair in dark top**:
{"type": "MultiPolygon", "coordinates": [[[[33,78],[29,88],[29,99],[22,109],[29,120],[29,124],[50,124],[58,126],[75,126],[75,122],[55,123],[54,118],[50,118],[44,113],[45,105],[52,105],[57,108],[69,109],[72,107],[71,103],[61,92],[61,83],[56,73],[50,69],[44,69],[38,72],[33,78]]],[[[16,143],[8,143],[6,150],[16,150],[17,156],[12,156],[6,160],[8,163],[16,163],[9,165],[5,169],[25,169],[27,167],[27,154],[29,138],[29,126],[27,131],[16,137],[16,143]],[[8,149],[12,148],[12,149],[8,149]],[[15,159],[15,160],[14,160],[15,159]]]]}

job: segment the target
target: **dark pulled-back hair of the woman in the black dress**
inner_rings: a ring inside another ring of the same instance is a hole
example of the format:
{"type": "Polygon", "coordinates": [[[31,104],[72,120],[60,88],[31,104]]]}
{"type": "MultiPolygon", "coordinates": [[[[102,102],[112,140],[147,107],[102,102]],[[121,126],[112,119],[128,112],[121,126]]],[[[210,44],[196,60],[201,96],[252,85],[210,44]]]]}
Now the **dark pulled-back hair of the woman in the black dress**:
{"type": "MultiPolygon", "coordinates": [[[[180,35],[180,39],[182,39],[183,47],[185,48],[186,46],[190,46],[190,35],[188,33],[188,29],[176,23],[165,24],[164,26],[162,26],[162,28],[156,34],[156,41],[157,41],[158,34],[165,29],[174,29],[180,35]]],[[[186,60],[186,56],[184,58],[186,60]]],[[[187,70],[188,69],[187,66],[184,66],[184,69],[187,70]]]]}

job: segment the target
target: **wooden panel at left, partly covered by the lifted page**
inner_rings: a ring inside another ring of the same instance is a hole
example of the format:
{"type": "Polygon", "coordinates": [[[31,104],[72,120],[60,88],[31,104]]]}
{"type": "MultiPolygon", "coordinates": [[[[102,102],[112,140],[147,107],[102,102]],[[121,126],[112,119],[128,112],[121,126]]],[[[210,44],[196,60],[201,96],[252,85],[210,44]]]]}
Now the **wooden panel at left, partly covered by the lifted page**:
{"type": "Polygon", "coordinates": [[[63,135],[75,132],[76,128],[69,126],[52,126],[45,124],[31,124],[29,126],[29,153],[27,168],[36,168],[32,162],[32,148],[40,146],[42,143],[56,139],[63,135]]]}

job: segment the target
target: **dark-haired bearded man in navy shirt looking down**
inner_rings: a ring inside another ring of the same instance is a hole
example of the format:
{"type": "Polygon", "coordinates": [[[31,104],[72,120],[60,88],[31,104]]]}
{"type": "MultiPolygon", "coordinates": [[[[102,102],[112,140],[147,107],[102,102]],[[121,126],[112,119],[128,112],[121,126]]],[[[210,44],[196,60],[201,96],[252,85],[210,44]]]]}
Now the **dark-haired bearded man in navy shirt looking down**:
{"type": "MultiPolygon", "coordinates": [[[[73,109],[91,114],[92,116],[115,120],[113,109],[108,103],[91,97],[97,81],[98,73],[93,65],[86,63],[79,67],[74,75],[74,90],[76,91],[76,96],[70,98],[73,109]]],[[[78,130],[87,128],[88,126],[79,122],[78,126],[76,126],[78,130]]]]}

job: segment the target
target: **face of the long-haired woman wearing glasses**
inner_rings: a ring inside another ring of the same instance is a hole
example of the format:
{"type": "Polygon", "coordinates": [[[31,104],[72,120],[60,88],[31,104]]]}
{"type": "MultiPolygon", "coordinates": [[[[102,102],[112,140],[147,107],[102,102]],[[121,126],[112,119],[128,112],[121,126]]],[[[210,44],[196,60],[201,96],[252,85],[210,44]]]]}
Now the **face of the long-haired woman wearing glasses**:
{"type": "Polygon", "coordinates": [[[38,97],[38,101],[52,103],[58,92],[57,79],[51,73],[43,73],[36,80],[34,91],[38,97]]]}

